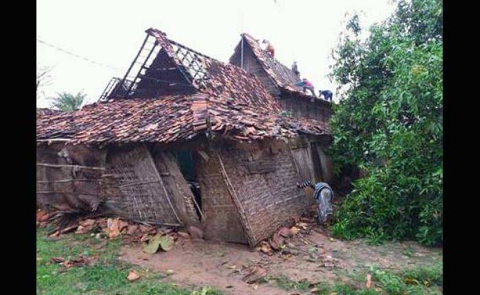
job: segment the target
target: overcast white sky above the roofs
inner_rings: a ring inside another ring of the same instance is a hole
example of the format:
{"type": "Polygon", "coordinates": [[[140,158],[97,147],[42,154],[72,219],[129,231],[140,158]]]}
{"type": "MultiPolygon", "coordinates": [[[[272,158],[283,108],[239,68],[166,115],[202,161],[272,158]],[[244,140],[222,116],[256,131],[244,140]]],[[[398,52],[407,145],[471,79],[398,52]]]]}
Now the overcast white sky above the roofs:
{"type": "Polygon", "coordinates": [[[276,58],[298,63],[315,90],[333,85],[326,75],[346,12],[361,11],[361,24],[383,21],[394,10],[388,0],[37,0],[37,38],[85,57],[86,62],[37,40],[37,64],[53,66],[38,107],[57,92],[87,94],[95,102],[112,77],[123,77],[154,27],[192,49],[228,62],[242,31],[267,39],[276,58]]]}

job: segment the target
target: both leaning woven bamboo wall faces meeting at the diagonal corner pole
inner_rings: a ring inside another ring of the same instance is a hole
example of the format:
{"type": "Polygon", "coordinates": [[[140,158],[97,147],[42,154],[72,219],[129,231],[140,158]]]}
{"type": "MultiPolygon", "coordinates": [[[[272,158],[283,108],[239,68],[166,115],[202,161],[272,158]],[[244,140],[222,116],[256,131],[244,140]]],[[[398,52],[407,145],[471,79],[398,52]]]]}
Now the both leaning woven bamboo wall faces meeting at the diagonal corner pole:
{"type": "MultiPolygon", "coordinates": [[[[313,203],[303,190],[296,188],[301,177],[286,144],[221,146],[218,153],[245,212],[253,244],[268,238],[290,216],[300,214],[313,203]]],[[[208,161],[202,157],[197,159],[206,234],[215,240],[246,243],[240,214],[221,175],[215,152],[208,153],[208,161]]]]}

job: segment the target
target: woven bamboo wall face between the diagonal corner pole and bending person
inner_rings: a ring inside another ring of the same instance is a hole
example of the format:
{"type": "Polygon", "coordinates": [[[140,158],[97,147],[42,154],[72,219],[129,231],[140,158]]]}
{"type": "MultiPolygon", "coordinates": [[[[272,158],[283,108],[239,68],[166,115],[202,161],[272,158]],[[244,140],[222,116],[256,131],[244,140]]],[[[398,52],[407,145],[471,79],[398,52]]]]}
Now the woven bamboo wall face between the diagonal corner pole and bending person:
{"type": "Polygon", "coordinates": [[[301,177],[286,144],[265,142],[262,146],[252,144],[249,149],[243,153],[224,151],[221,155],[254,239],[259,242],[313,201],[296,188],[301,177]]]}

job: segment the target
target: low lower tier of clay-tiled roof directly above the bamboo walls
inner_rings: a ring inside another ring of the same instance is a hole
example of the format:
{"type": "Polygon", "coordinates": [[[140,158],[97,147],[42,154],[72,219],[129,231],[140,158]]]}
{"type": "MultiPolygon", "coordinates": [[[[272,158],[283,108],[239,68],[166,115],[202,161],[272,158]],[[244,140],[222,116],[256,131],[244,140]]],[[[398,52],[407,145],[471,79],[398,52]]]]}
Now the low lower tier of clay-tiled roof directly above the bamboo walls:
{"type": "Polygon", "coordinates": [[[190,140],[207,129],[232,140],[329,134],[326,123],[286,118],[261,105],[203,93],[94,103],[37,118],[36,128],[37,140],[69,138],[73,144],[169,143],[190,140]]]}

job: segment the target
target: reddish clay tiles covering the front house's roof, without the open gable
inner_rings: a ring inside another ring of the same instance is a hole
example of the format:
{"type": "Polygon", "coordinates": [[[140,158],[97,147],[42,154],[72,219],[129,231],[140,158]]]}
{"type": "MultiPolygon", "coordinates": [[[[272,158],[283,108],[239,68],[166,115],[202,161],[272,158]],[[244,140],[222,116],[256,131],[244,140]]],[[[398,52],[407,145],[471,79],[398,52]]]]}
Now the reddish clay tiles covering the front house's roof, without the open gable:
{"type": "MultiPolygon", "coordinates": [[[[182,61],[163,32],[150,29],[179,68],[182,61]]],[[[206,67],[196,94],[152,99],[111,99],[82,110],[37,118],[37,140],[70,139],[71,144],[176,142],[205,132],[232,140],[292,138],[302,133],[330,134],[328,123],[286,118],[255,75],[195,53],[206,67]]],[[[190,75],[191,70],[184,70],[190,75]]],[[[193,79],[193,78],[192,78],[193,79]]]]}

